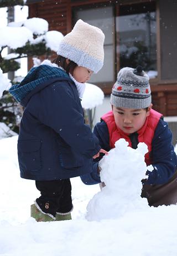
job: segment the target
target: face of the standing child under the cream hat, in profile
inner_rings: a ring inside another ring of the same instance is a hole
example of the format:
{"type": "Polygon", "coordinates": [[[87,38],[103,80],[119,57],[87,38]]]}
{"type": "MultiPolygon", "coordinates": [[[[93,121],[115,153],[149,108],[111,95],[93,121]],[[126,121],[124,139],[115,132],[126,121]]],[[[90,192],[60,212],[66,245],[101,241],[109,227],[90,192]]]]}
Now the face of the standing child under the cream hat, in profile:
{"type": "Polygon", "coordinates": [[[90,79],[92,73],[93,71],[88,68],[77,66],[72,72],[72,76],[77,82],[86,83],[90,79]]]}

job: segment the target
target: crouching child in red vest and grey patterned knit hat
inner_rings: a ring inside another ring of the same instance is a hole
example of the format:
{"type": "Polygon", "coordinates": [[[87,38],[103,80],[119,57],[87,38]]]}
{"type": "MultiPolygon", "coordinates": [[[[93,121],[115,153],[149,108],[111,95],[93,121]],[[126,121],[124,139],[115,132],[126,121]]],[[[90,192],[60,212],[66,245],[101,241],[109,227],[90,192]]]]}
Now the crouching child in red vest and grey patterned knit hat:
{"type": "MultiPolygon", "coordinates": [[[[150,206],[177,203],[177,160],[171,143],[172,134],[162,114],[152,109],[149,77],[138,66],[122,68],[111,94],[112,111],[101,117],[93,132],[103,149],[109,151],[114,143],[124,138],[129,146],[136,149],[139,142],[148,146],[145,154],[148,179],[142,180],[142,197],[148,199],[150,206]]],[[[102,155],[103,156],[103,155],[102,155]]],[[[82,175],[85,184],[100,183],[99,160],[93,164],[93,172],[82,175]]]]}

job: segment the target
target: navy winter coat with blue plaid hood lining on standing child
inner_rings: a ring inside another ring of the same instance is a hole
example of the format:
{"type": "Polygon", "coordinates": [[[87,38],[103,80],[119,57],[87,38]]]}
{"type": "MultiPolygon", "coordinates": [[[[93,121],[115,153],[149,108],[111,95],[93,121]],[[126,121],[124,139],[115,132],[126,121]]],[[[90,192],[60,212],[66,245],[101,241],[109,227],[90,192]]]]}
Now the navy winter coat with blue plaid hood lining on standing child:
{"type": "Polygon", "coordinates": [[[101,147],[84,122],[75,83],[63,70],[32,68],[9,92],[25,107],[18,138],[22,178],[55,180],[91,172],[101,147]]]}

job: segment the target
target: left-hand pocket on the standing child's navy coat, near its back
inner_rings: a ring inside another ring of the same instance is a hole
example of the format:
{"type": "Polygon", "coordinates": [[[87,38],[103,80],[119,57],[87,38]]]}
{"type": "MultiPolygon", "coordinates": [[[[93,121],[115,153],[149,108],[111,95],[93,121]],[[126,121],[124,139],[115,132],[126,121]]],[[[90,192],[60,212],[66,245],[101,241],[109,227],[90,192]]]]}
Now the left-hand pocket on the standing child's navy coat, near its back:
{"type": "Polygon", "coordinates": [[[18,161],[25,170],[40,170],[40,140],[18,140],[18,161]]]}

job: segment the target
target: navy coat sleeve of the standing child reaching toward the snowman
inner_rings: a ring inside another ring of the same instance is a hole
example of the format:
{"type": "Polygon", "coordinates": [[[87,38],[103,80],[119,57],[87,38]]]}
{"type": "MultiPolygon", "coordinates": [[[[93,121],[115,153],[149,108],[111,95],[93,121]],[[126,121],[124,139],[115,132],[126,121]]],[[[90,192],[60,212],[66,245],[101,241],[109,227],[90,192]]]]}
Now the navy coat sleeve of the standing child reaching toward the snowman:
{"type": "MultiPolygon", "coordinates": [[[[72,85],[73,86],[73,85],[72,85]]],[[[67,82],[56,82],[32,99],[30,109],[39,121],[53,128],[76,152],[92,158],[101,147],[85,124],[80,102],[67,82]]]]}

